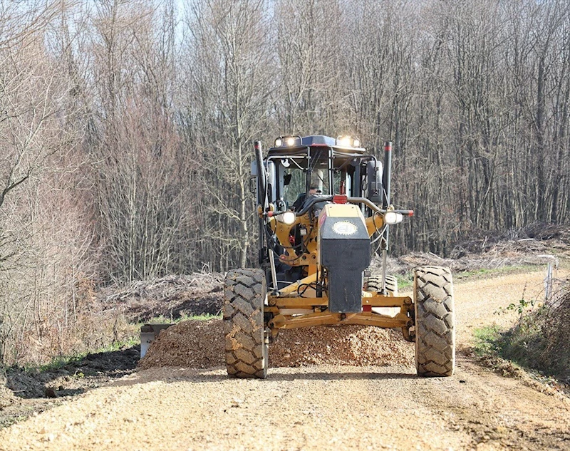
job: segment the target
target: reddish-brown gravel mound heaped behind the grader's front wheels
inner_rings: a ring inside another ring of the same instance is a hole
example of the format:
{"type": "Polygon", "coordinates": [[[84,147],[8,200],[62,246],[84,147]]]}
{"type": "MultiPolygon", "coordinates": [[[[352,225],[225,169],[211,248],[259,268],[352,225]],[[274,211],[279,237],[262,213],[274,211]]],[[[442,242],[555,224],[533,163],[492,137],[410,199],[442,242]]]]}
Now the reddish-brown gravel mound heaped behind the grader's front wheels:
{"type": "MultiPolygon", "coordinates": [[[[269,366],[388,366],[413,363],[414,348],[400,331],[373,326],[318,326],[281,331],[269,346],[269,366]]],[[[224,365],[222,320],[183,321],[162,331],[138,367],[224,365]]]]}

